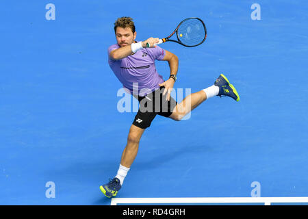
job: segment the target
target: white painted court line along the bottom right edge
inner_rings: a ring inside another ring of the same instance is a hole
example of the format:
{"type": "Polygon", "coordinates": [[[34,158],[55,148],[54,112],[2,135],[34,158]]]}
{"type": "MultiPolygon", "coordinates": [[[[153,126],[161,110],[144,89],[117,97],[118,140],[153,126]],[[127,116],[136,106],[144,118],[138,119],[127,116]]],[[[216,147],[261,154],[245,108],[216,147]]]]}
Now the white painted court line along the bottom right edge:
{"type": "Polygon", "coordinates": [[[220,198],[112,198],[117,204],[179,204],[179,203],[308,203],[308,197],[220,197],[220,198]]]}

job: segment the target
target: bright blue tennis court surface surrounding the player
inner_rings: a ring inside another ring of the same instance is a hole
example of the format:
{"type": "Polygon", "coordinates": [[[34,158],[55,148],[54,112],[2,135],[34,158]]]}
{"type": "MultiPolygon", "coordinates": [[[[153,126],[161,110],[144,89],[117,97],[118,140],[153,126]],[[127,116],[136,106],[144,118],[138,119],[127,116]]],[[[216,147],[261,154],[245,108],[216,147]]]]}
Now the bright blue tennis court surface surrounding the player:
{"type": "MultiPolygon", "coordinates": [[[[185,97],[223,73],[241,99],[209,99],[179,122],[156,116],[116,198],[251,197],[253,182],[261,197],[308,196],[308,3],[174,2],[1,2],[1,205],[111,204],[99,185],[116,175],[136,115],[118,112],[107,63],[120,16],[138,40],[203,19],[200,46],[160,45],[179,57],[175,88],[185,97]]],[[[168,63],[157,71],[168,78],[168,63]]]]}

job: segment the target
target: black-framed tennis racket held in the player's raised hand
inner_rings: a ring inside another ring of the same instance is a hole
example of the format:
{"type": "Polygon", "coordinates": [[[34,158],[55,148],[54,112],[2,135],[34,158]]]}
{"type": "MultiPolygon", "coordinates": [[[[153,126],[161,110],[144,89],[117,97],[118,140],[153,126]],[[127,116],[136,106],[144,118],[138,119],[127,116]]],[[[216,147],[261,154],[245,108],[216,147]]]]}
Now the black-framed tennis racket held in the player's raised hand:
{"type": "MultiPolygon", "coordinates": [[[[155,45],[171,41],[177,42],[184,47],[196,47],[203,43],[205,38],[207,38],[207,29],[203,21],[200,18],[186,18],[177,25],[172,34],[166,38],[159,39],[159,42],[155,43],[155,45]],[[170,37],[174,34],[177,36],[177,39],[170,40],[170,37]]],[[[146,47],[151,47],[151,44],[147,42],[146,47]]]]}

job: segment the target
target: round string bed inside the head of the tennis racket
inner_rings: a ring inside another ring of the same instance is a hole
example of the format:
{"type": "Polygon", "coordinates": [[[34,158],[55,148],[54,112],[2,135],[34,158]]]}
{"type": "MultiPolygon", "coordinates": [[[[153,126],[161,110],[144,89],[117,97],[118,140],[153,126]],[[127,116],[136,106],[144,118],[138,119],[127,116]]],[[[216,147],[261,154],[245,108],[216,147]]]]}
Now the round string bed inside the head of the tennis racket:
{"type": "Polygon", "coordinates": [[[194,46],[200,44],[205,39],[205,28],[198,19],[189,19],[181,23],[177,34],[181,43],[187,46],[194,46]]]}

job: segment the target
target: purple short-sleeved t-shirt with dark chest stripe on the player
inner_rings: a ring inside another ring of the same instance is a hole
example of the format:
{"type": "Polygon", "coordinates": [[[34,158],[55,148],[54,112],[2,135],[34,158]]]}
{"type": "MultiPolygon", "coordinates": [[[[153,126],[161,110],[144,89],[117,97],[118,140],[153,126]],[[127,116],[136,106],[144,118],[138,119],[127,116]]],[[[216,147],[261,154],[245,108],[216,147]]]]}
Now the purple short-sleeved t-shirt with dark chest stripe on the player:
{"type": "Polygon", "coordinates": [[[133,55],[122,60],[111,60],[109,54],[112,50],[118,49],[118,44],[108,48],[108,63],[118,80],[127,88],[138,95],[144,96],[159,88],[158,83],[164,82],[162,75],[157,73],[155,60],[163,60],[166,52],[160,47],[140,49],[133,55]]]}

